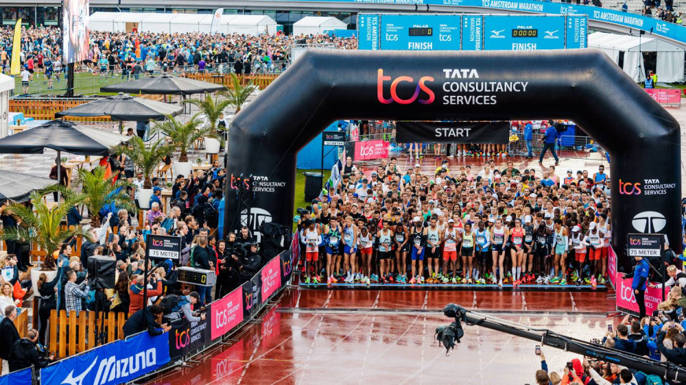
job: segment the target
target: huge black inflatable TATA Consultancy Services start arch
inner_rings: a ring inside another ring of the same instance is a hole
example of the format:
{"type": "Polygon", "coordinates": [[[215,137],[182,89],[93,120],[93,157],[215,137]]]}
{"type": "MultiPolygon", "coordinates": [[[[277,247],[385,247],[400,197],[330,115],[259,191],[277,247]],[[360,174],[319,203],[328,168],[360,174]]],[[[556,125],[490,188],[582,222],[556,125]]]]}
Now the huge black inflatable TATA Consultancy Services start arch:
{"type": "Polygon", "coordinates": [[[255,223],[292,223],[296,154],[337,119],[549,118],[609,151],[617,253],[630,232],[667,234],[681,251],[679,125],[593,49],[311,50],[231,123],[225,225],[237,224],[240,175],[254,177],[255,223]]]}

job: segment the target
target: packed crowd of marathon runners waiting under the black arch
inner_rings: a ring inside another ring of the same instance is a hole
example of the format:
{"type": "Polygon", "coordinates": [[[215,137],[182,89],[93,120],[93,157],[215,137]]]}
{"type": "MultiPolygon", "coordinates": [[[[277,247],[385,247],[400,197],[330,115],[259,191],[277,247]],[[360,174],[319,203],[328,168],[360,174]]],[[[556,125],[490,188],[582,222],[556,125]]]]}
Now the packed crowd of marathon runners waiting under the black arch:
{"type": "Polygon", "coordinates": [[[305,283],[604,284],[604,166],[502,165],[427,173],[390,158],[363,172],[347,158],[340,185],[300,210],[305,283]]]}

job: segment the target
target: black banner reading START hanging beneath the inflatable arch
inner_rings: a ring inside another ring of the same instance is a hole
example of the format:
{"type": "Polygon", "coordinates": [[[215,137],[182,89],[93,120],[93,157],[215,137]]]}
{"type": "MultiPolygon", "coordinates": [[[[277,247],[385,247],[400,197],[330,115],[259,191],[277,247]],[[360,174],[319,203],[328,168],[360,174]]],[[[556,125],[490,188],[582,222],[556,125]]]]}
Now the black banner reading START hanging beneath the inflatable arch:
{"type": "Polygon", "coordinates": [[[509,142],[510,122],[397,122],[399,143],[490,143],[509,142]]]}

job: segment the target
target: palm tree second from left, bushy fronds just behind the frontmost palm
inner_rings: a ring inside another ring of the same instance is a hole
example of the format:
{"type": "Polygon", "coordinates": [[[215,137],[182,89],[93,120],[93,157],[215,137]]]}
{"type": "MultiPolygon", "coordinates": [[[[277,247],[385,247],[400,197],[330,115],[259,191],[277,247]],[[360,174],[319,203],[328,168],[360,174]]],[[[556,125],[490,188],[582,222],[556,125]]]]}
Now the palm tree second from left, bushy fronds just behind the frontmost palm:
{"type": "Polygon", "coordinates": [[[81,188],[84,195],[83,203],[91,214],[91,226],[99,227],[100,219],[98,213],[102,208],[109,204],[114,204],[118,209],[136,211],[131,196],[126,192],[126,188],[133,187],[134,184],[124,178],[117,178],[115,175],[105,177],[105,169],[98,166],[93,171],[79,169],[76,185],[81,188]]]}

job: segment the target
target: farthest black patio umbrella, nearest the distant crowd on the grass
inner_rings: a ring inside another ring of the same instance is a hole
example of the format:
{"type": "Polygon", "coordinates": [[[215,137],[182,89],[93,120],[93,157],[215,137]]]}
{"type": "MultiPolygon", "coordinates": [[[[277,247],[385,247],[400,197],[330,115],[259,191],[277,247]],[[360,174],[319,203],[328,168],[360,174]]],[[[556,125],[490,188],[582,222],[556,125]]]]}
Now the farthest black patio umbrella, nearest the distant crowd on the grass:
{"type": "Polygon", "coordinates": [[[226,90],[221,84],[202,82],[172,75],[143,77],[121,84],[100,87],[101,92],[126,92],[128,94],[193,95],[202,92],[226,90]]]}

